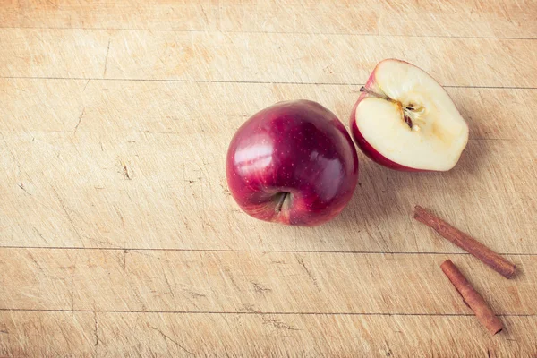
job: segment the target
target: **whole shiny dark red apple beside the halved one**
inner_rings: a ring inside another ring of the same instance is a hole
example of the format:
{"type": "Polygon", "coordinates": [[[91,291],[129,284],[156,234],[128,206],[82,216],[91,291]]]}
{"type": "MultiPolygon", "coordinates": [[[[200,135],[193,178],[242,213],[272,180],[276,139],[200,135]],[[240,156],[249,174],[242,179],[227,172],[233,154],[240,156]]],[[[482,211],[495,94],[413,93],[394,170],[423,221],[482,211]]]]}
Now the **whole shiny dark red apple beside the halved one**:
{"type": "Polygon", "coordinates": [[[234,134],[226,177],[234,200],[251,217],[317,226],[351,200],[358,156],[345,126],[327,108],[304,99],[279,102],[234,134]],[[282,192],[290,193],[283,205],[282,192]]]}

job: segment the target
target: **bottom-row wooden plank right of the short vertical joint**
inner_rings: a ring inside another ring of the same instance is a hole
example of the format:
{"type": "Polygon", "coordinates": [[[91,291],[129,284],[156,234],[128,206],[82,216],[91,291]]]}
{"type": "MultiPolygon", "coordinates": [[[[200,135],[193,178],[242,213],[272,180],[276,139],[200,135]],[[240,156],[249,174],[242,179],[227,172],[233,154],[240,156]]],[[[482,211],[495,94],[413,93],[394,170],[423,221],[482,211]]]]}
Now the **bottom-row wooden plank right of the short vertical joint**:
{"type": "Polygon", "coordinates": [[[186,350],[217,356],[386,357],[434,349],[449,356],[517,357],[534,354],[527,332],[537,329],[534,317],[503,318],[510,330],[498,340],[487,337],[473,317],[103,313],[98,320],[103,351],[111,355],[190,355],[186,350]],[[132,331],[135,335],[127,333],[132,331]]]}

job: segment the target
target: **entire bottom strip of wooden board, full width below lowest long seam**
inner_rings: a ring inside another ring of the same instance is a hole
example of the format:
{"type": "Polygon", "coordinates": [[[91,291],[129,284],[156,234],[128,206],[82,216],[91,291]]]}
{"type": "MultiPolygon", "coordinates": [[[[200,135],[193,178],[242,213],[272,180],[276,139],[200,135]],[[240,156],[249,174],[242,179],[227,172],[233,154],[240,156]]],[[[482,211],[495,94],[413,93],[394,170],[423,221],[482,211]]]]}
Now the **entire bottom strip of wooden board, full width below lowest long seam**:
{"type": "Polygon", "coordinates": [[[509,330],[491,338],[472,316],[4,311],[0,354],[398,357],[434,349],[449,356],[532,356],[527,333],[537,320],[501,320],[509,330]]]}

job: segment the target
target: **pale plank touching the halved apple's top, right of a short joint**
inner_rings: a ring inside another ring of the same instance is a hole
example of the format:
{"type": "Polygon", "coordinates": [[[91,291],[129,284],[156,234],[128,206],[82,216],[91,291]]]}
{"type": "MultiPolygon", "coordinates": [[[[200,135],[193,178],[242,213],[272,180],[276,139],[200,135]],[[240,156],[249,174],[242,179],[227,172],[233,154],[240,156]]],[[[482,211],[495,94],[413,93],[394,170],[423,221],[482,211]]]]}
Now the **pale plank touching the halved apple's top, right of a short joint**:
{"type": "Polygon", "coordinates": [[[537,41],[522,39],[117,31],[106,78],[357,84],[395,57],[446,86],[535,88],[536,53],[537,41]]]}

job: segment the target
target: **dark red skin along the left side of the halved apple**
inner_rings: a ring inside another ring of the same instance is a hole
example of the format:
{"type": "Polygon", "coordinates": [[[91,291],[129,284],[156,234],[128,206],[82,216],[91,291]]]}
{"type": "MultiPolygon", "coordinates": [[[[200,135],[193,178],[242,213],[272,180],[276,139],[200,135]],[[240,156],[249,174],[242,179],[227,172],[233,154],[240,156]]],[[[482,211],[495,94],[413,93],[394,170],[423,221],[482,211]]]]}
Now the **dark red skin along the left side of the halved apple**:
{"type": "MultiPolygon", "coordinates": [[[[383,60],[387,61],[387,60],[383,60]]],[[[379,64],[381,64],[383,61],[381,61],[379,64]]],[[[400,60],[397,60],[400,61],[400,60]]],[[[404,62],[404,61],[401,61],[404,62]]],[[[365,89],[371,90],[376,93],[382,93],[382,90],[379,89],[379,87],[376,85],[377,81],[375,79],[375,73],[377,72],[377,67],[379,67],[379,64],[375,67],[373,72],[371,72],[370,78],[365,83],[365,89]]],[[[367,92],[362,92],[356,103],[354,104],[353,110],[351,111],[351,118],[350,118],[350,128],[351,133],[353,134],[354,141],[356,142],[356,145],[358,148],[360,148],[368,158],[373,160],[374,162],[378,163],[381,166],[386,166],[390,169],[402,171],[402,172],[429,172],[430,170],[424,170],[424,169],[417,169],[409,166],[402,166],[394,161],[389,160],[388,158],[384,157],[382,154],[377,151],[377,149],[374,149],[371,144],[363,138],[362,133],[358,129],[358,126],[356,125],[356,108],[364,98],[371,97],[370,94],[367,92]]]]}

